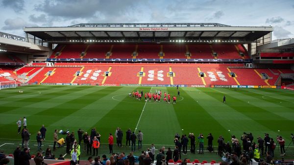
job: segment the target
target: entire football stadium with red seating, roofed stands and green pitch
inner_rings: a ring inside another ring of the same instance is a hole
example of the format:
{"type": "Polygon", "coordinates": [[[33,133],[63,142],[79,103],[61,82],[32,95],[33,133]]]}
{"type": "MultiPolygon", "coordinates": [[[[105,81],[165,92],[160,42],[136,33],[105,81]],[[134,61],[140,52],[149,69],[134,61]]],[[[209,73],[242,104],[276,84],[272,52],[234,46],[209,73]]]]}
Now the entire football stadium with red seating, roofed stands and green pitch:
{"type": "Polygon", "coordinates": [[[273,31],[80,23],[0,32],[0,151],[10,164],[23,150],[31,164],[293,164],[294,39],[272,40],[273,31]]]}

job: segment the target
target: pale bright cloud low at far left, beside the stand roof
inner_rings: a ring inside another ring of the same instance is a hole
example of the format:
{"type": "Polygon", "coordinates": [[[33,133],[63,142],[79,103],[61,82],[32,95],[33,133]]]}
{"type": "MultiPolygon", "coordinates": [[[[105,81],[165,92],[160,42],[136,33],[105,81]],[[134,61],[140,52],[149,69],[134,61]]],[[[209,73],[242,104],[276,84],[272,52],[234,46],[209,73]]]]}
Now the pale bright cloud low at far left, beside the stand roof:
{"type": "Polygon", "coordinates": [[[20,30],[23,29],[25,26],[36,26],[36,24],[31,24],[23,20],[22,18],[15,18],[15,19],[6,19],[4,21],[5,26],[3,26],[2,30],[20,30]]]}

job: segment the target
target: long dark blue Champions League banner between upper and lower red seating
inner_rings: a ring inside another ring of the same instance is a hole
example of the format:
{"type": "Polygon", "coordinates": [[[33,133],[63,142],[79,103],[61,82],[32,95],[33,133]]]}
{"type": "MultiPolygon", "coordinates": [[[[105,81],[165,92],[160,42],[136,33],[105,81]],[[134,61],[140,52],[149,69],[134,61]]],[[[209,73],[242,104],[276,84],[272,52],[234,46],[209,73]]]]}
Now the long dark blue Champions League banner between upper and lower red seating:
{"type": "Polygon", "coordinates": [[[47,62],[252,62],[252,59],[47,59],[47,62]]]}

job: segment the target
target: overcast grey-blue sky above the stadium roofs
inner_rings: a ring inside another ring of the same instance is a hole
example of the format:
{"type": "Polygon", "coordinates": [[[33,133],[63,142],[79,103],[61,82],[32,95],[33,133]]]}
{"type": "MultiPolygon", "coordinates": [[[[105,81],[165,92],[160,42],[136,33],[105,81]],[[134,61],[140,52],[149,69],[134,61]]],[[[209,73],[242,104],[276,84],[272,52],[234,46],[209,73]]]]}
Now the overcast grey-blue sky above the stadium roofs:
{"type": "Polygon", "coordinates": [[[197,23],[273,26],[294,38],[294,0],[0,0],[0,31],[78,23],[197,23]]]}

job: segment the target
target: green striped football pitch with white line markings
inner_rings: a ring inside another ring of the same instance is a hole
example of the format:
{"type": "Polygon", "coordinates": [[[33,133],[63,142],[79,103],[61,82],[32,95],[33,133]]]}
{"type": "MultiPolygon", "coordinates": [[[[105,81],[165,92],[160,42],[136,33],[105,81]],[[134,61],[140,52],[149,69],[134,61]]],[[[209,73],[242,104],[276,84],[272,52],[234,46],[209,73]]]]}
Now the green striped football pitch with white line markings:
{"type": "MultiPolygon", "coordinates": [[[[179,88],[180,97],[176,104],[138,101],[128,94],[134,90],[177,95],[175,87],[112,87],[112,86],[23,86],[0,90],[0,150],[12,153],[21,144],[21,135],[17,133],[19,118],[27,118],[27,128],[31,133],[29,147],[37,152],[36,133],[44,124],[47,128],[43,149],[53,144],[54,129],[69,129],[75,133],[79,128],[91,132],[96,127],[101,134],[99,155],[108,154],[107,139],[109,133],[123,130],[123,147],[114,147],[114,152],[130,151],[125,147],[125,131],[141,130],[144,134],[142,149],[155,144],[174,148],[175,133],[196,136],[208,133],[214,136],[214,145],[222,135],[225,141],[231,141],[231,135],[239,140],[243,132],[251,132],[254,142],[257,137],[269,133],[276,139],[283,136],[286,147],[294,133],[294,92],[281,89],[247,88],[179,88]],[[19,90],[23,93],[19,93],[19,90]],[[222,103],[223,95],[226,103],[222,103]]],[[[60,135],[59,138],[65,137],[60,135]]],[[[241,140],[240,140],[241,141],[241,140]]],[[[204,141],[207,145],[207,141],[204,141]]],[[[190,142],[189,142],[190,144],[190,142]]],[[[83,148],[83,144],[81,145],[83,148]]],[[[52,147],[51,147],[52,148],[52,147]]],[[[189,146],[188,146],[189,148],[189,146]]],[[[275,158],[281,159],[280,151],[275,149],[275,158]]],[[[217,147],[215,146],[215,150],[217,147]]],[[[157,152],[157,151],[156,151],[157,152]]],[[[65,154],[65,147],[58,148],[55,154],[65,154]]],[[[139,151],[135,155],[139,156],[139,151]]],[[[294,144],[286,151],[286,159],[294,158],[294,144]]],[[[86,159],[85,152],[81,154],[86,159]]],[[[185,157],[191,160],[217,160],[215,153],[205,152],[194,155],[188,152],[185,157]]],[[[66,158],[70,158],[69,155],[66,158]]]]}

